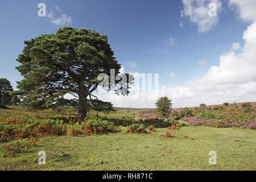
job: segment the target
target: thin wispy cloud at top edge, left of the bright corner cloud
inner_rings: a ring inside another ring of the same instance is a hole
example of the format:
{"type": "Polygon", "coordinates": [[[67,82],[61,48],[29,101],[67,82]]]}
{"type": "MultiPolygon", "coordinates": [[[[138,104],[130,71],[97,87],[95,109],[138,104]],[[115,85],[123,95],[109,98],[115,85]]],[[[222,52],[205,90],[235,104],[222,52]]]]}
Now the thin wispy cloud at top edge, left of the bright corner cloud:
{"type": "Polygon", "coordinates": [[[183,0],[182,18],[189,18],[192,24],[197,26],[199,32],[208,32],[218,23],[218,16],[209,16],[209,4],[215,3],[217,13],[222,10],[220,0],[183,0]]]}

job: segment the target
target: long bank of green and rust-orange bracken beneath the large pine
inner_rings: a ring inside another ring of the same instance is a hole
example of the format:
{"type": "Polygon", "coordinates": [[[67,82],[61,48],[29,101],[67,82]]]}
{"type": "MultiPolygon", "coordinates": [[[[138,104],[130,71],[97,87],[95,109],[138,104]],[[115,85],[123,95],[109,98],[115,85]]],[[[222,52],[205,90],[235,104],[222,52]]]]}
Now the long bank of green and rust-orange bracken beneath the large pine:
{"type": "MultiPolygon", "coordinates": [[[[129,124],[127,123],[127,126],[129,124]]],[[[119,131],[113,122],[101,118],[88,118],[77,122],[77,118],[19,114],[9,117],[0,114],[0,142],[18,138],[42,136],[80,136],[105,134],[119,131]]]]}

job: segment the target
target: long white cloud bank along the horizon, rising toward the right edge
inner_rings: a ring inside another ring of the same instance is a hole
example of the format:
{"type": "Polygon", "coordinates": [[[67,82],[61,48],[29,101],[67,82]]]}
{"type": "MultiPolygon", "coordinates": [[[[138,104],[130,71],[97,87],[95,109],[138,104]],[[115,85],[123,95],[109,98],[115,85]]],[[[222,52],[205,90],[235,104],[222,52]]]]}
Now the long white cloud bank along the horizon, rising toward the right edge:
{"type": "MultiPolygon", "coordinates": [[[[234,2],[231,1],[230,2],[234,2]]],[[[236,4],[236,9],[241,17],[247,6],[236,4]]],[[[254,6],[254,3],[251,4],[254,6]]],[[[256,9],[256,7],[254,7],[256,9]]],[[[253,17],[254,12],[251,14],[253,17]]],[[[248,16],[249,17],[249,16],[248,16]]],[[[247,18],[246,18],[247,19],[247,18]]],[[[245,20],[246,20],[245,19],[245,20]]],[[[146,94],[135,92],[129,96],[115,94],[100,94],[99,98],[113,102],[118,107],[155,107],[155,100],[160,96],[172,98],[174,107],[199,106],[221,104],[223,102],[255,101],[256,96],[256,18],[243,33],[244,46],[234,43],[233,50],[241,49],[239,53],[234,51],[220,56],[218,66],[213,66],[200,79],[189,82],[184,86],[165,85],[159,88],[159,92],[146,94]]],[[[140,90],[137,88],[137,90],[140,90]]]]}

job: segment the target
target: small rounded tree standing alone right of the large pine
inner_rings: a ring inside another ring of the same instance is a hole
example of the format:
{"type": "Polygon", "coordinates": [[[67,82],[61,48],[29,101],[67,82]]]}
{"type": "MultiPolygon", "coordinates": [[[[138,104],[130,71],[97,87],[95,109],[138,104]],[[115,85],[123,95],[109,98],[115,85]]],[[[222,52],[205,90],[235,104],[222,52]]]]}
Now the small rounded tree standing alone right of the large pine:
{"type": "Polygon", "coordinates": [[[158,101],[155,103],[158,114],[160,117],[168,118],[169,114],[171,113],[172,108],[172,100],[168,97],[160,97],[158,101]]]}

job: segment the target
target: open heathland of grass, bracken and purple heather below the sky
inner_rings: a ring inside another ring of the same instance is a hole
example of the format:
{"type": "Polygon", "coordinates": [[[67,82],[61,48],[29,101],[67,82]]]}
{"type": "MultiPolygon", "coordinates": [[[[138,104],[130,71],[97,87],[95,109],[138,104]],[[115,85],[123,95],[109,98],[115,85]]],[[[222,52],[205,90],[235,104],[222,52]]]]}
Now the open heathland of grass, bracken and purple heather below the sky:
{"type": "Polygon", "coordinates": [[[1,170],[255,170],[256,103],[90,111],[0,109],[1,170]],[[38,152],[46,152],[46,165],[38,152]],[[217,163],[209,163],[210,151],[217,163]]]}

